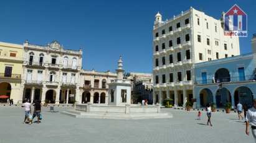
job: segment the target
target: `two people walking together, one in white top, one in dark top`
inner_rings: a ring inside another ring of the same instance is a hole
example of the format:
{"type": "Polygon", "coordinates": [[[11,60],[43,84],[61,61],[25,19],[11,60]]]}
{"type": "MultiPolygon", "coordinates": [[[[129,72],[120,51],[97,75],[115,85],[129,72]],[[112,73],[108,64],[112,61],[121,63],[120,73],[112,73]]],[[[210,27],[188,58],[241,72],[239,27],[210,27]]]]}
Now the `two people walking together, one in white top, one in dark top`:
{"type": "Polygon", "coordinates": [[[22,104],[22,107],[25,108],[25,118],[23,123],[26,123],[26,121],[29,124],[32,124],[33,119],[35,117],[37,117],[37,124],[40,123],[40,119],[42,119],[42,115],[41,115],[41,103],[39,100],[36,100],[33,103],[34,106],[34,113],[33,115],[31,115],[32,111],[31,111],[31,103],[29,103],[29,100],[25,99],[25,103],[22,104]]]}

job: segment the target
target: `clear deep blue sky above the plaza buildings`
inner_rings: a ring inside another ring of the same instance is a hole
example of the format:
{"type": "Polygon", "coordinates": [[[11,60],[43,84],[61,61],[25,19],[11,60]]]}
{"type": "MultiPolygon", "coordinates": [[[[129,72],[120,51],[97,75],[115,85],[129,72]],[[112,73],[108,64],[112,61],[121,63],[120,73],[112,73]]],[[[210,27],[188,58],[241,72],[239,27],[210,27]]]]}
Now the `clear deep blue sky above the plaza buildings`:
{"type": "Polygon", "coordinates": [[[251,51],[256,33],[256,1],[1,1],[0,41],[46,45],[58,40],[67,49],[83,48],[83,69],[114,71],[123,55],[126,72],[152,71],[154,15],[170,19],[190,6],[219,19],[238,4],[248,15],[249,37],[241,53],[251,51]]]}

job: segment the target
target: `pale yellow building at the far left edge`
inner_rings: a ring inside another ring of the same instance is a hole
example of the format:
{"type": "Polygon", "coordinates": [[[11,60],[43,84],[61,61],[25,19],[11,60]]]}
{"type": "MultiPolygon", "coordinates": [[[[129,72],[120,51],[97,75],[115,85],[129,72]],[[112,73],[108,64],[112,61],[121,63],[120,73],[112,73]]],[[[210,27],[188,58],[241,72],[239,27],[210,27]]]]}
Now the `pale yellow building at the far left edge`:
{"type": "Polygon", "coordinates": [[[22,63],[22,45],[0,42],[0,103],[7,102],[7,98],[22,102],[22,63]]]}

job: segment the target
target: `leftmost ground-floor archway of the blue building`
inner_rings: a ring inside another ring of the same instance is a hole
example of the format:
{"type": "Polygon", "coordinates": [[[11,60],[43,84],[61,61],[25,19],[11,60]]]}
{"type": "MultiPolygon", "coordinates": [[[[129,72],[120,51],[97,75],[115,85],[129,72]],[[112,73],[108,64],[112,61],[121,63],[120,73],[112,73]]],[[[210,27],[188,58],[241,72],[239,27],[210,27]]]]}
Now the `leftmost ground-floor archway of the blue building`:
{"type": "Polygon", "coordinates": [[[206,106],[208,103],[213,103],[213,95],[210,89],[202,89],[200,92],[200,105],[206,106]]]}

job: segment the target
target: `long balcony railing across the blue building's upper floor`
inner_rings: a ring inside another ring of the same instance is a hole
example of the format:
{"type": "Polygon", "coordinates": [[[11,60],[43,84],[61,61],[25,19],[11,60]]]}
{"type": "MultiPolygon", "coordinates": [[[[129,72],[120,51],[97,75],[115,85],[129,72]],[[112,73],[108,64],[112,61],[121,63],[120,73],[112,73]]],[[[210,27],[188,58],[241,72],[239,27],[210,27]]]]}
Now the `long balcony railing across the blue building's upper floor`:
{"type": "Polygon", "coordinates": [[[217,79],[194,80],[194,84],[219,84],[222,82],[245,82],[256,80],[256,76],[222,77],[217,79]]]}

